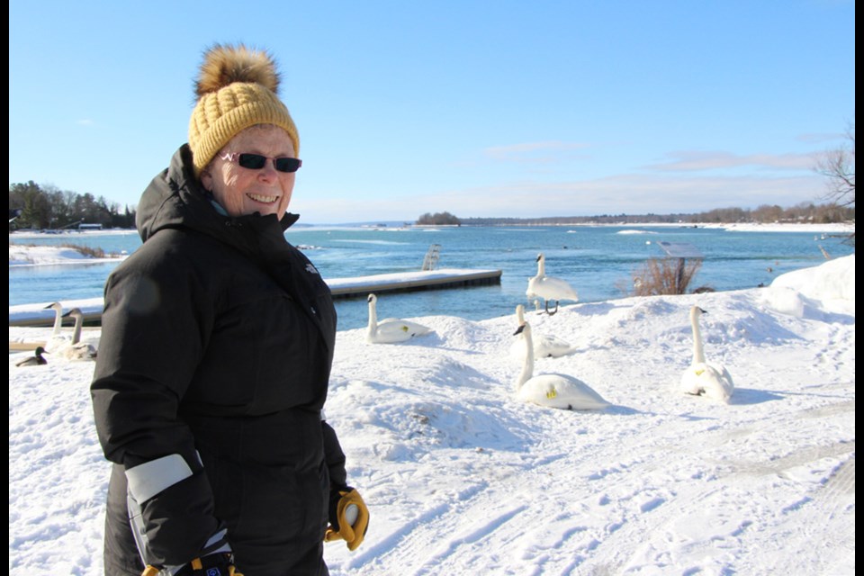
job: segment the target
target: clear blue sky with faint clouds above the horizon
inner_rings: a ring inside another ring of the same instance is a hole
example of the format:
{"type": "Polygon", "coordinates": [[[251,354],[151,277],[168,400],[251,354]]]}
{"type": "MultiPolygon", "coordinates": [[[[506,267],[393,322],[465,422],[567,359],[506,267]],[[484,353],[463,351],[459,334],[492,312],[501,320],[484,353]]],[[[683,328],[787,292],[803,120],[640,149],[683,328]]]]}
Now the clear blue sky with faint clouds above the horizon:
{"type": "Polygon", "coordinates": [[[9,182],[134,206],[214,42],[270,50],[306,223],[824,202],[853,0],[58,2],[9,8],[9,182]]]}

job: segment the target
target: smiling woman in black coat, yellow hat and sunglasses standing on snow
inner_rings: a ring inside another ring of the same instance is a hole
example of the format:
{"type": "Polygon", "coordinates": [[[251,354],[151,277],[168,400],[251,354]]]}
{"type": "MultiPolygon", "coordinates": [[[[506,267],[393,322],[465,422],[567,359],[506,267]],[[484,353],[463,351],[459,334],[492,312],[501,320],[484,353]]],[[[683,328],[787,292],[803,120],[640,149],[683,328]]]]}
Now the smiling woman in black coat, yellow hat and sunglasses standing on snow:
{"type": "Polygon", "coordinates": [[[278,83],[266,52],[208,50],[189,142],[105,285],[91,394],[114,463],[108,576],[327,574],[323,540],[365,536],[323,419],[336,310],[284,237],[302,163],[278,83]]]}

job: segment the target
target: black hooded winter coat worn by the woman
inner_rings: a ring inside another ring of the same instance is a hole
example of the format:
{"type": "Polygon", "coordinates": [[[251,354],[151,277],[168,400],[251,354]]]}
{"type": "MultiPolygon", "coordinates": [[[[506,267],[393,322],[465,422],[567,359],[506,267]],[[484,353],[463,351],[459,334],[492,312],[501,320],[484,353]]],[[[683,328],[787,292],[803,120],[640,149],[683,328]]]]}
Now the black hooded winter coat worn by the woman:
{"type": "MultiPolygon", "coordinates": [[[[142,503],[150,563],[183,564],[227,528],[238,570],[326,574],[345,456],[321,410],[336,311],[284,238],[297,217],[220,215],[184,145],[138,211],[144,244],[105,285],[91,386],[113,465],[105,573],[139,574],[126,471],[181,455],[192,475],[142,503]]],[[[210,543],[212,544],[212,543],[210,543]]]]}

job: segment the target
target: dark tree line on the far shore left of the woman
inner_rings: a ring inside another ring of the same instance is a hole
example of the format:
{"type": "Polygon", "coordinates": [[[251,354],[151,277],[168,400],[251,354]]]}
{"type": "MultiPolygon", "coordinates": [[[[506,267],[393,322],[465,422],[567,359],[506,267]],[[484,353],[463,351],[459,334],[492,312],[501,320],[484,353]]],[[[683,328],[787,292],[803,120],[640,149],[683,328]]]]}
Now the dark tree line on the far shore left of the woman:
{"type": "Polygon", "coordinates": [[[58,190],[26,184],[9,184],[9,231],[15,229],[67,229],[78,224],[102,224],[103,228],[134,228],[135,209],[108,202],[91,193],[58,190]]]}

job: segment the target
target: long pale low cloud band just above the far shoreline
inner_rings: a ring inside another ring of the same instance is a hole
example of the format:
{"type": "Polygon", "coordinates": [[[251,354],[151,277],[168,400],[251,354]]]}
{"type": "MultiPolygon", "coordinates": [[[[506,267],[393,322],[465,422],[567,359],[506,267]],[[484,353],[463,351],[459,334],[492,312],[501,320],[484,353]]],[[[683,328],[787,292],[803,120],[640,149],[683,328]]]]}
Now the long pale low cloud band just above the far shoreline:
{"type": "Polygon", "coordinates": [[[819,203],[817,175],[788,177],[618,175],[594,180],[522,181],[439,193],[324,199],[310,194],[293,204],[306,222],[329,222],[350,213],[352,221],[413,221],[426,212],[459,218],[542,218],[602,214],[668,214],[716,208],[754,209],[763,204],[819,203]]]}

